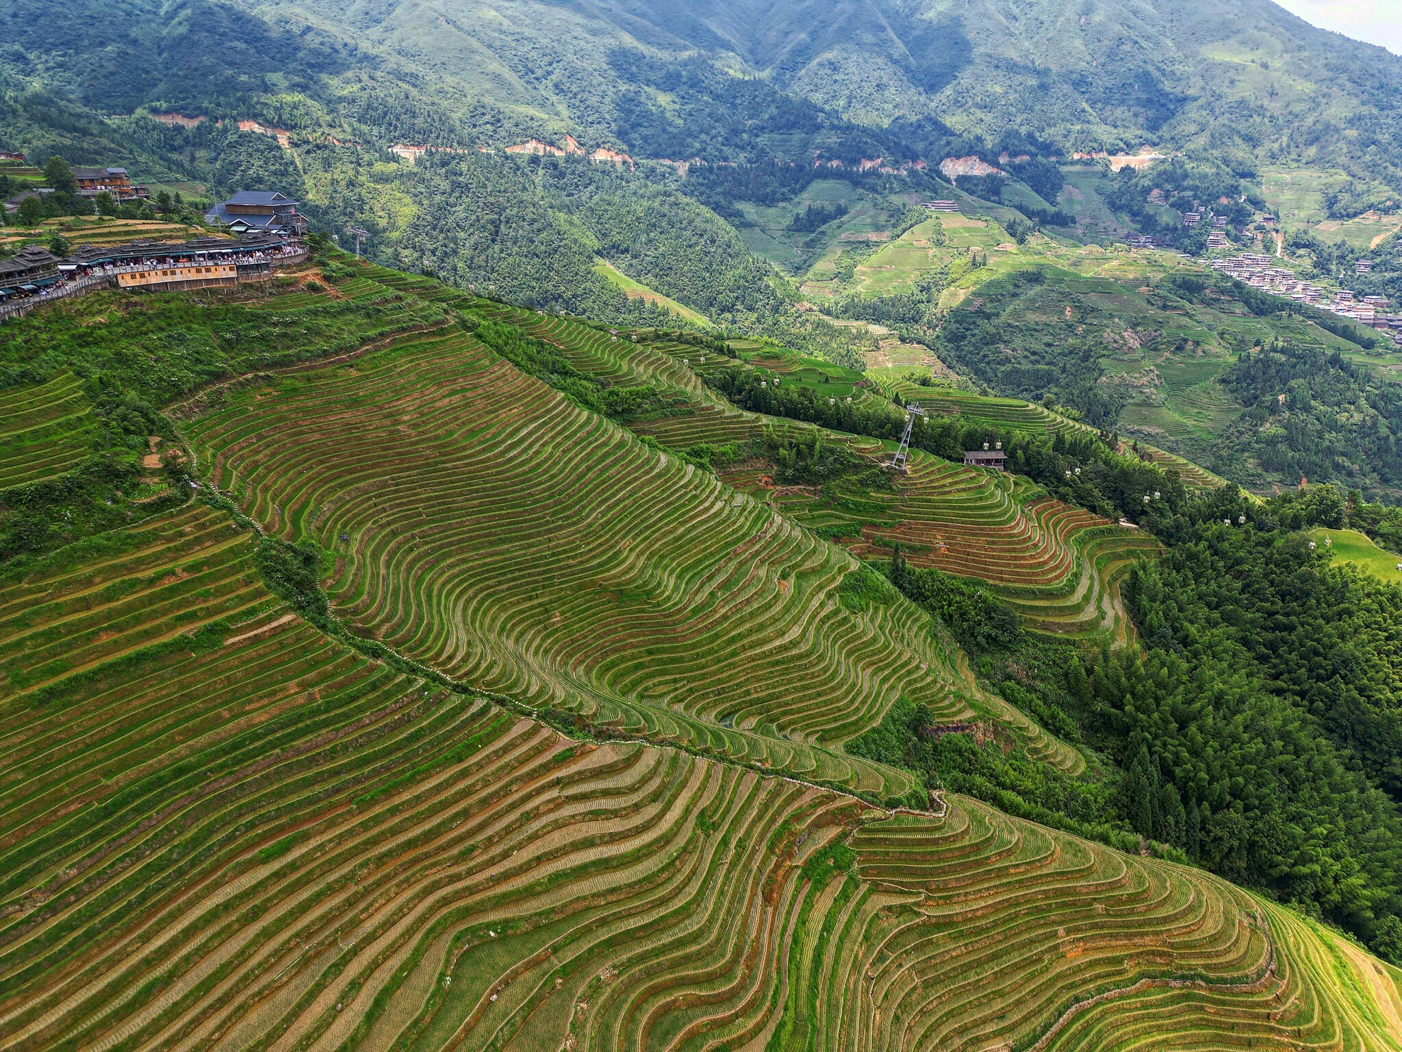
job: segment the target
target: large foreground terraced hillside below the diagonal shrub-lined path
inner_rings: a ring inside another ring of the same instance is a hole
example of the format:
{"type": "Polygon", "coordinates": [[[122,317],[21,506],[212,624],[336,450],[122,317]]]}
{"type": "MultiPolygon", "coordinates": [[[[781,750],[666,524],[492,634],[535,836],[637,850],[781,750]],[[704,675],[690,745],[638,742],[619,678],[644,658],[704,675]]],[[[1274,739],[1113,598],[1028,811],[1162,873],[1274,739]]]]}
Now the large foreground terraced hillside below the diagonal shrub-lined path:
{"type": "Polygon", "coordinates": [[[571,742],[252,544],[193,506],[0,581],[53,655],[0,699],[0,1046],[1398,1046],[1395,971],[1217,879],[571,742]]]}

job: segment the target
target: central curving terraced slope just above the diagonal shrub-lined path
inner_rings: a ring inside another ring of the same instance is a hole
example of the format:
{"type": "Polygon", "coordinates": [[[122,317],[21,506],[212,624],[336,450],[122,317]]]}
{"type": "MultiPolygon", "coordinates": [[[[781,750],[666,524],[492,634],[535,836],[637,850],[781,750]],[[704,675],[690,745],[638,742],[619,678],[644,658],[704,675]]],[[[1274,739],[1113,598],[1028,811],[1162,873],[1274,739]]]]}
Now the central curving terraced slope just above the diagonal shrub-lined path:
{"type": "Polygon", "coordinates": [[[830,749],[901,694],[969,710],[916,607],[841,609],[848,557],[464,332],[188,435],[271,532],[335,553],[342,616],[479,689],[878,793],[906,777],[830,749]]]}

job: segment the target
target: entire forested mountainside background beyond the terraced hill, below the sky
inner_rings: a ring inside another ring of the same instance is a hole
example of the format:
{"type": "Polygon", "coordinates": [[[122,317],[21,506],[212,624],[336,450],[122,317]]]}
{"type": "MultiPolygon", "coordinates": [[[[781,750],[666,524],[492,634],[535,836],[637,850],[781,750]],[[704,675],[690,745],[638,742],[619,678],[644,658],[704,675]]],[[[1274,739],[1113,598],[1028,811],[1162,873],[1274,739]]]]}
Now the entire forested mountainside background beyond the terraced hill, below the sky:
{"type": "MultiPolygon", "coordinates": [[[[365,226],[380,262],[617,324],[670,311],[848,366],[886,360],[878,330],[893,328],[920,360],[924,346],[967,382],[1052,396],[1258,490],[1308,476],[1396,494],[1385,457],[1359,454],[1395,446],[1387,355],[1286,412],[1269,405],[1279,370],[1228,372],[1252,346],[1357,358],[1381,338],[1321,345],[1274,317],[1284,300],[1246,304],[1270,316],[1251,332],[1221,297],[1192,304],[1203,325],[1178,324],[1189,304],[1165,264],[1138,278],[1115,259],[1136,230],[1203,251],[1206,223],[1182,220],[1199,201],[1258,226],[1272,160],[1330,166],[1330,217],[1395,201],[1381,102],[1398,60],[1273,4],[18,0],[0,28],[0,147],[41,163],[129,164],[186,199],[280,189],[321,229],[365,226]],[[858,105],[864,91],[890,112],[858,105]],[[203,121],[150,119],[171,112],[203,121]],[[262,130],[238,130],[251,121],[262,130]],[[506,154],[566,136],[583,156],[506,154]],[[1067,163],[1144,142],[1185,156],[1115,177],[1067,163]],[[397,144],[439,149],[408,163],[397,144]],[[592,163],[599,147],[635,164],[592,163]],[[951,187],[946,151],[1009,178],[951,187]],[[949,230],[913,208],[949,196],[965,209],[949,230]],[[1110,254],[1077,255],[1092,244],[1110,254]],[[990,281],[1042,274],[1036,295],[990,281]],[[1357,424],[1338,411],[1350,398],[1370,403],[1357,424]]],[[[1368,247],[1388,229],[1340,255],[1286,227],[1316,278],[1371,251],[1359,292],[1396,300],[1395,245],[1368,247]]]]}

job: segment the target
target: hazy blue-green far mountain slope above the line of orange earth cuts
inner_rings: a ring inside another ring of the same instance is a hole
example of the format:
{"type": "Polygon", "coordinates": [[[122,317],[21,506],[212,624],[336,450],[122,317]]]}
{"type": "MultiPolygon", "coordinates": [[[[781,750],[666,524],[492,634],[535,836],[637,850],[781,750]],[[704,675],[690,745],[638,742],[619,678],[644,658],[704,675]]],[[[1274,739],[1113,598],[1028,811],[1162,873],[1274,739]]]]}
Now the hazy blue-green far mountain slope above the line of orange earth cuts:
{"type": "Polygon", "coordinates": [[[890,156],[1026,133],[1063,151],[1193,146],[1237,167],[1288,159],[1402,182],[1402,58],[1269,0],[8,8],[0,84],[60,88],[108,114],[258,95],[289,122],[335,116],[419,140],[537,129],[712,157],[761,143],[801,153],[815,136],[890,156]],[[716,67],[737,80],[715,81],[716,67]],[[676,133],[659,139],[659,123],[676,133]]]}

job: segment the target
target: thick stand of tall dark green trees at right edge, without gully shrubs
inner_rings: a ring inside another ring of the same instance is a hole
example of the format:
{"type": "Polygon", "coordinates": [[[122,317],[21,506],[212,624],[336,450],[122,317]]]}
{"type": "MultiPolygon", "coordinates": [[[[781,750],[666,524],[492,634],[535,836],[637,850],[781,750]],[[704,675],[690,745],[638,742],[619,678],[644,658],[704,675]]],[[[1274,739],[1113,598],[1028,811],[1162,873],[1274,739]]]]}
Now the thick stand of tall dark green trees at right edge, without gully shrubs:
{"type": "Polygon", "coordinates": [[[1087,724],[1186,802],[1179,826],[1129,780],[1141,833],[1402,959],[1402,589],[1286,529],[1304,502],[1245,508],[1220,494],[1157,525],[1168,550],[1126,588],[1145,654],[1102,655],[1087,724]]]}

